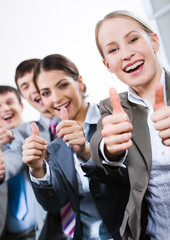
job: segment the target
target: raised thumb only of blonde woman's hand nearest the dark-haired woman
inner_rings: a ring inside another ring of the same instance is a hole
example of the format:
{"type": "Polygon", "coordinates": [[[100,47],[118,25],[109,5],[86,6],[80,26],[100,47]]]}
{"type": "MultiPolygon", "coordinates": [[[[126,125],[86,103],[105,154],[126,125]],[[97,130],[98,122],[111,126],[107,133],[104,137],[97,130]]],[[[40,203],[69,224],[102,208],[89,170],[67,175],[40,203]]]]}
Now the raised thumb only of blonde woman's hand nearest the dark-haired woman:
{"type": "Polygon", "coordinates": [[[120,104],[119,95],[114,88],[110,88],[109,90],[110,101],[113,107],[113,113],[124,113],[124,110],[120,104]]]}

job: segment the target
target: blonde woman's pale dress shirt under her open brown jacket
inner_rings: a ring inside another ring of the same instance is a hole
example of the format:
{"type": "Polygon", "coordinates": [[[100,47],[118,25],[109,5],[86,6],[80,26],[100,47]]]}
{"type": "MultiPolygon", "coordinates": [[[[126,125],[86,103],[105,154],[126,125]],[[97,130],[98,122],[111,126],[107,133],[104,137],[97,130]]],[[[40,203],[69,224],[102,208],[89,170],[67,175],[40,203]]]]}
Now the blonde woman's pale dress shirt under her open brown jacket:
{"type": "MultiPolygon", "coordinates": [[[[165,72],[162,70],[160,82],[164,86],[164,101],[166,101],[165,72]]],[[[129,101],[141,104],[148,112],[147,122],[150,132],[152,167],[150,179],[145,194],[148,203],[148,224],[146,233],[151,240],[170,239],[170,147],[162,144],[159,132],[151,120],[154,112],[147,99],[142,99],[131,89],[129,101]]]]}

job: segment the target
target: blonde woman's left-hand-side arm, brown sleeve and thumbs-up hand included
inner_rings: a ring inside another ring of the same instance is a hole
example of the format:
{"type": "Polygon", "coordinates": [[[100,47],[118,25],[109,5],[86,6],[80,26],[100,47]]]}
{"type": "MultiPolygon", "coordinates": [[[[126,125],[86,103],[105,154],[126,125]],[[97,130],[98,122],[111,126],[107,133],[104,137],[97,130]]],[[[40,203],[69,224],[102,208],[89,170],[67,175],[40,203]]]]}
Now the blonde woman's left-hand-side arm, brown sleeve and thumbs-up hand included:
{"type": "Polygon", "coordinates": [[[119,162],[132,146],[132,124],[120,105],[119,96],[115,90],[110,91],[110,99],[100,103],[101,119],[97,131],[93,135],[90,146],[95,163],[108,173],[113,169],[103,164],[104,157],[100,151],[101,141],[104,140],[104,154],[110,162],[119,162]],[[114,109],[114,110],[113,110],[114,109]]]}

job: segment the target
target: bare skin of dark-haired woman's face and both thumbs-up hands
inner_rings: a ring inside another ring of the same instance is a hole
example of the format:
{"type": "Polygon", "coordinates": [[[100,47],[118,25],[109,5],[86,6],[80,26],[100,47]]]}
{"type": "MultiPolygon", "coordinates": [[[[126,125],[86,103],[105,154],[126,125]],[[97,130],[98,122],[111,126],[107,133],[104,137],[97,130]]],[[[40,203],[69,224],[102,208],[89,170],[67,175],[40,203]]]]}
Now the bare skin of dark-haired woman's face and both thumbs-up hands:
{"type": "MultiPolygon", "coordinates": [[[[75,152],[88,160],[90,149],[82,129],[88,104],[83,98],[84,83],[81,76],[75,81],[63,71],[41,71],[37,85],[44,105],[53,115],[62,119],[56,127],[58,137],[63,138],[75,152]]],[[[38,132],[35,134],[35,125],[32,126],[32,132],[33,135],[23,145],[23,161],[32,174],[40,178],[45,175],[43,157],[46,143],[38,132]]]]}

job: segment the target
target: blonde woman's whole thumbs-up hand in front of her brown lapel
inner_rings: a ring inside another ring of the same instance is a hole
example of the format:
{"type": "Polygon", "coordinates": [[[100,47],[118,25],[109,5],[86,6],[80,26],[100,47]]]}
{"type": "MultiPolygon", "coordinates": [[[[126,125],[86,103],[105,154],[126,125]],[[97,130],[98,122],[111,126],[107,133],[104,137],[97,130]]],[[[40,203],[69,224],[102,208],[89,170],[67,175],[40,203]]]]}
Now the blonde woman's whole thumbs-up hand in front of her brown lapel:
{"type": "Polygon", "coordinates": [[[113,112],[102,120],[102,136],[105,143],[106,157],[113,159],[113,157],[116,158],[132,146],[133,126],[120,104],[116,90],[111,88],[109,94],[113,112]]]}

